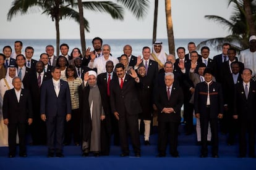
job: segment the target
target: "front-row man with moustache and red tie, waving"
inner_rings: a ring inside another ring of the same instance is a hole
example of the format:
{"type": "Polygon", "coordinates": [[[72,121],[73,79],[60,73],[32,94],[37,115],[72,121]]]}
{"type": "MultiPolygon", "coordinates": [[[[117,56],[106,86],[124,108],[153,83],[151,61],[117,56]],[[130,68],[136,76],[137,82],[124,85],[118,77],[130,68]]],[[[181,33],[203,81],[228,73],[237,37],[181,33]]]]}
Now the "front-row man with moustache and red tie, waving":
{"type": "Polygon", "coordinates": [[[122,63],[117,63],[116,74],[118,78],[110,84],[110,104],[114,116],[118,120],[119,136],[122,153],[120,156],[129,156],[128,131],[134,148],[135,156],[140,157],[140,136],[138,115],[141,113],[139,99],[137,97],[136,83],[140,79],[137,73],[131,69],[127,75],[122,63]]]}

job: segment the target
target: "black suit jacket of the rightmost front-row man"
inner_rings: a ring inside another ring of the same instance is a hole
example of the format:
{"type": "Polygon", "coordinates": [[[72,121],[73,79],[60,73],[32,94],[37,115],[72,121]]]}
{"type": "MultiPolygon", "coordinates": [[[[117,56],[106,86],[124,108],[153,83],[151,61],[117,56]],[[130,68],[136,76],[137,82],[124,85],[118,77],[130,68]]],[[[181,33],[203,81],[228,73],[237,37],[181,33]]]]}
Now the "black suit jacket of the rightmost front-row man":
{"type": "Polygon", "coordinates": [[[242,122],[253,122],[256,119],[256,84],[250,82],[248,98],[245,97],[242,81],[235,86],[234,94],[234,115],[242,122]]]}

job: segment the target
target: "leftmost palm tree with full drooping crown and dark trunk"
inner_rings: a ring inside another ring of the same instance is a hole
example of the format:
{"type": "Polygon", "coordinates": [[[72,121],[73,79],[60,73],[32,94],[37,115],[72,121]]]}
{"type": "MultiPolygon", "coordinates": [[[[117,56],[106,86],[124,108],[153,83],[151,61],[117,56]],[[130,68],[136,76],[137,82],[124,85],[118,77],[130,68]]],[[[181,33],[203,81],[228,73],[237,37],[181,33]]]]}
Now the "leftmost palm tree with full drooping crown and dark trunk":
{"type": "MultiPolygon", "coordinates": [[[[42,14],[50,15],[52,20],[55,21],[56,27],[56,52],[59,55],[59,21],[62,18],[73,18],[76,22],[80,23],[79,12],[72,9],[75,6],[72,0],[15,0],[12,2],[12,7],[7,14],[7,20],[12,20],[17,14],[27,14],[28,9],[39,7],[43,12],[42,14]],[[71,8],[70,8],[71,7],[71,8]]],[[[103,2],[87,2],[87,8],[91,10],[98,10],[106,12],[113,18],[123,19],[123,9],[116,3],[111,1],[103,2]],[[96,7],[95,7],[96,6],[96,7]]],[[[88,21],[83,18],[84,28],[89,31],[88,21]]]]}

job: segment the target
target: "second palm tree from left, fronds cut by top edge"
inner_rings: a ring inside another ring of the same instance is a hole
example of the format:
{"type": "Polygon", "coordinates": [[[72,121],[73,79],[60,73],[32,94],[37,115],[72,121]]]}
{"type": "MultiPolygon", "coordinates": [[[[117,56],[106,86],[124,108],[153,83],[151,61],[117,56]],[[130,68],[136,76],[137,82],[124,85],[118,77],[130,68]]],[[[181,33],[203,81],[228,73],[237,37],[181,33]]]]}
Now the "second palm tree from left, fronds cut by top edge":
{"type": "MultiPolygon", "coordinates": [[[[149,6],[149,1],[148,0],[116,0],[117,4],[121,4],[124,6],[126,9],[130,10],[132,14],[135,15],[135,18],[141,19],[147,14],[147,9],[149,6]]],[[[83,26],[83,8],[88,9],[88,10],[95,10],[98,12],[103,12],[106,11],[108,12],[108,8],[105,7],[104,9],[101,8],[101,4],[104,4],[106,1],[103,2],[96,2],[96,1],[91,1],[91,2],[82,2],[82,0],[77,0],[77,3],[74,3],[73,5],[77,5],[79,7],[79,15],[80,15],[80,39],[81,39],[81,46],[82,46],[82,52],[83,55],[85,55],[86,51],[86,44],[85,44],[85,33],[84,33],[84,26],[83,26]]],[[[110,2],[109,2],[110,3],[110,2]]],[[[112,18],[114,19],[119,19],[123,20],[123,17],[116,17],[116,15],[113,15],[111,11],[108,12],[112,18]]]]}

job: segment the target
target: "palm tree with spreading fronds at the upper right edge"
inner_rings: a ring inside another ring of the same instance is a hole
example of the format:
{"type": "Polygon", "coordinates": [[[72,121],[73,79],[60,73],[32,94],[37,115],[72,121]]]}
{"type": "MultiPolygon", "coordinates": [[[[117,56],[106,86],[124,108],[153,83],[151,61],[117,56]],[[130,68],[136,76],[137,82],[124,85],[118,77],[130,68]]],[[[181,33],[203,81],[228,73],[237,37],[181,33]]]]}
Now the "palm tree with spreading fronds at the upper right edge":
{"type": "MultiPolygon", "coordinates": [[[[226,20],[223,17],[216,15],[205,15],[205,18],[208,20],[213,20],[224,25],[224,28],[228,28],[229,35],[221,38],[212,38],[200,42],[197,49],[200,49],[202,46],[215,46],[216,49],[221,49],[221,45],[224,42],[229,42],[231,46],[235,47],[237,50],[241,51],[249,47],[249,36],[250,29],[248,25],[247,18],[245,17],[245,6],[242,0],[229,0],[228,6],[234,4],[234,12],[231,15],[230,20],[226,20]]],[[[252,18],[254,23],[256,22],[256,6],[250,3],[250,9],[252,11],[252,18]]],[[[254,24],[255,28],[255,24],[254,24]]]]}

